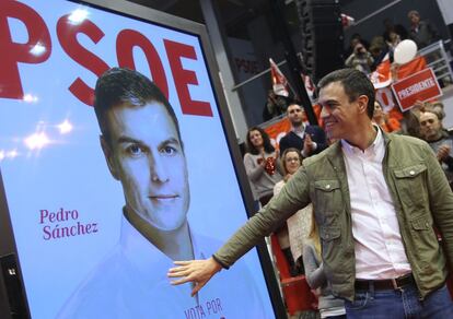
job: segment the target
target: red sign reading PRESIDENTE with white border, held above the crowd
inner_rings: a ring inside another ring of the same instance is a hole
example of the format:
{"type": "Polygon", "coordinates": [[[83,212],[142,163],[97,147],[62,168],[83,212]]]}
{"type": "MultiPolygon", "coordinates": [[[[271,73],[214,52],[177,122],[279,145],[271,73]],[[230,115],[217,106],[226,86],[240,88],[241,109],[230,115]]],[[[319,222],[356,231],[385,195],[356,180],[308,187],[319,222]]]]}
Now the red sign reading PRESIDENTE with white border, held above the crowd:
{"type": "Polygon", "coordinates": [[[426,102],[442,95],[431,68],[393,83],[392,90],[402,111],[410,109],[417,101],[426,102]]]}

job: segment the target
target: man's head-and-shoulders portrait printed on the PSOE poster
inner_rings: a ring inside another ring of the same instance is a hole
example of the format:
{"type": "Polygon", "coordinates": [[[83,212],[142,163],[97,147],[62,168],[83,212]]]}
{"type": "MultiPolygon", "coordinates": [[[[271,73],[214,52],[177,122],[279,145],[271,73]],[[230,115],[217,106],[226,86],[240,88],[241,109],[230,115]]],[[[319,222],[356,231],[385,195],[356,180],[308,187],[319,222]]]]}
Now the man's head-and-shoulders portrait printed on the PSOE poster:
{"type": "Polygon", "coordinates": [[[101,149],[125,196],[120,235],[58,318],[184,318],[199,307],[206,318],[266,317],[244,265],[191,297],[190,287],[167,284],[173,260],[205,258],[219,247],[187,218],[190,189],[178,119],[162,91],[133,70],[107,70],[94,94],[101,149]],[[239,284],[225,291],[225,281],[239,284]],[[249,307],[237,309],[237,298],[251,300],[249,307]],[[214,299],[221,312],[208,316],[206,304],[214,299]]]}

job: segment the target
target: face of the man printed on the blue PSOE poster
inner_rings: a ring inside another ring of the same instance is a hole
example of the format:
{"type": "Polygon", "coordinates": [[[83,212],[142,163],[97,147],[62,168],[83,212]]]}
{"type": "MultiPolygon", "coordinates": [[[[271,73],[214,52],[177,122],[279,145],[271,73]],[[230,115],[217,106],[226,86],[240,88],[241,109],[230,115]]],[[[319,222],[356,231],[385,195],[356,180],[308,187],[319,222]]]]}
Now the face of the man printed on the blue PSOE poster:
{"type": "Polygon", "coordinates": [[[186,222],[190,194],[187,165],[175,123],[165,107],[118,105],[106,113],[111,144],[102,142],[126,208],[151,226],[174,231],[186,222]]]}

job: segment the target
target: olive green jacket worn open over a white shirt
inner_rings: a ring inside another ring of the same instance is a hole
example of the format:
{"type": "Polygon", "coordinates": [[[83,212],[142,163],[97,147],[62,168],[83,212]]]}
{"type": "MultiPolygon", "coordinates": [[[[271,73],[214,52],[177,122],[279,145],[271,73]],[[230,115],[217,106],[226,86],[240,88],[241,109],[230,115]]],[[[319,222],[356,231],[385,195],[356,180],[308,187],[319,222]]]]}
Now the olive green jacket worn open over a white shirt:
{"type": "MultiPolygon", "coordinates": [[[[442,286],[453,264],[453,193],[429,145],[385,134],[383,173],[403,244],[420,294],[442,286]],[[442,234],[440,247],[433,226],[442,234]]],[[[213,256],[228,268],[274,227],[313,202],[324,269],[335,296],[355,298],[356,256],[350,198],[341,144],[304,161],[278,197],[248,220],[213,256]]]]}

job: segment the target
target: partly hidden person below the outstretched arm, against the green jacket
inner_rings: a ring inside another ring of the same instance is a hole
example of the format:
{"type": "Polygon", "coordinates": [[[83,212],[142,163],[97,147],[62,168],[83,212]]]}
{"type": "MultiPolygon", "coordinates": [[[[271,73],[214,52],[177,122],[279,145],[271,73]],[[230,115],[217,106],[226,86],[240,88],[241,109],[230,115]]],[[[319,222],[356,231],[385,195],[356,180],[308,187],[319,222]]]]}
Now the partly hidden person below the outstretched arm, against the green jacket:
{"type": "Polygon", "coordinates": [[[346,319],[345,302],[332,294],[321,258],[321,240],[315,218],[312,217],[309,237],[303,246],[303,264],[309,286],[317,295],[321,318],[346,319]]]}

